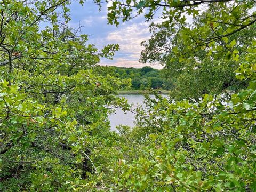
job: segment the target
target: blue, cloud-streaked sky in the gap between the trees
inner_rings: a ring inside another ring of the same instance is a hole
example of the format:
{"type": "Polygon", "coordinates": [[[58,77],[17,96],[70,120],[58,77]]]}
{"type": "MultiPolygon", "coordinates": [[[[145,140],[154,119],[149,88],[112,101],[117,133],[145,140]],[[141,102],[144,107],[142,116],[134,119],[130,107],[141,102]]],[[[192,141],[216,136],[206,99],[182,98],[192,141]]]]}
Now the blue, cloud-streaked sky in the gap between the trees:
{"type": "MultiPolygon", "coordinates": [[[[102,49],[104,45],[116,44],[120,50],[115,54],[113,60],[101,59],[100,65],[134,67],[151,66],[161,69],[161,65],[150,65],[139,63],[140,52],[143,49],[140,43],[150,38],[148,26],[143,15],[120,23],[118,27],[107,24],[107,4],[102,6],[101,12],[98,5],[92,1],[86,1],[83,6],[77,1],[70,5],[70,26],[77,28],[79,25],[82,34],[89,35],[89,43],[95,44],[95,47],[102,49]]],[[[156,18],[155,22],[159,19],[156,18]]]]}

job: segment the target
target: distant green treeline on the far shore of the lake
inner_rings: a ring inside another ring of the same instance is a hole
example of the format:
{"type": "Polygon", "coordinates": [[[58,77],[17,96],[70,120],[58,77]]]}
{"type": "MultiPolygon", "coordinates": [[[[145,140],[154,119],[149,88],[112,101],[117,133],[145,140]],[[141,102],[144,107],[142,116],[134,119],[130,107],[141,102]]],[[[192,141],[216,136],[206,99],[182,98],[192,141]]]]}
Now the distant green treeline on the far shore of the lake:
{"type": "Polygon", "coordinates": [[[145,90],[148,88],[170,90],[172,83],[164,78],[162,70],[149,66],[142,68],[97,66],[95,69],[102,75],[113,75],[120,79],[131,79],[131,88],[145,90]]]}

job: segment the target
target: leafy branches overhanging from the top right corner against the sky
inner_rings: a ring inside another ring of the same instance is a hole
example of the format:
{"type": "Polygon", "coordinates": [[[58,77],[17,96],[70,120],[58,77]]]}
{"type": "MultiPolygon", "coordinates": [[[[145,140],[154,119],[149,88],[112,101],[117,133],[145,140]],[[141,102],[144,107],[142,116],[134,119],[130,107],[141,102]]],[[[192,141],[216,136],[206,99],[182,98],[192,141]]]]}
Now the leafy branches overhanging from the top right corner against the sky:
{"type": "MultiPolygon", "coordinates": [[[[95,3],[101,5],[105,1],[95,0],[95,3]]],[[[146,21],[153,19],[157,11],[161,11],[164,26],[172,28],[181,27],[180,37],[186,43],[186,50],[182,52],[175,47],[175,54],[182,58],[184,53],[195,53],[202,48],[212,47],[218,53],[226,47],[234,46],[235,42],[229,43],[228,38],[239,31],[243,31],[247,27],[256,22],[253,7],[254,1],[238,1],[238,0],[215,0],[215,1],[114,1],[108,7],[108,21],[110,24],[118,26],[119,19],[122,21],[130,20],[137,15],[144,14],[146,21]],[[201,16],[200,6],[207,7],[208,12],[204,12],[204,17],[201,18],[201,26],[186,25],[185,14],[193,18],[201,16]],[[145,11],[147,10],[147,11],[145,11]],[[134,15],[135,14],[135,15],[134,15]],[[203,32],[203,33],[202,33],[203,32]],[[215,44],[222,40],[226,46],[215,44]]],[[[158,54],[158,53],[156,53],[158,54]]],[[[228,57],[237,57],[237,52],[227,52],[228,57]]]]}

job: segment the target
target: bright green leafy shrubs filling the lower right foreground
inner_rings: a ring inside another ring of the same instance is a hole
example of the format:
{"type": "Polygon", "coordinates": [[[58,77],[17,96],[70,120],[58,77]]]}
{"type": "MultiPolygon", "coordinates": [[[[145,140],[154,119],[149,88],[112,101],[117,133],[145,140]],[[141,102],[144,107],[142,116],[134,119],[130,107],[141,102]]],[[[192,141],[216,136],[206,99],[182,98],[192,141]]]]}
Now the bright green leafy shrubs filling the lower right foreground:
{"type": "Polygon", "coordinates": [[[256,185],[256,42],[236,70],[249,86],[231,99],[205,94],[198,102],[147,97],[133,130],[105,164],[109,182],[127,191],[254,191],[256,185]]]}

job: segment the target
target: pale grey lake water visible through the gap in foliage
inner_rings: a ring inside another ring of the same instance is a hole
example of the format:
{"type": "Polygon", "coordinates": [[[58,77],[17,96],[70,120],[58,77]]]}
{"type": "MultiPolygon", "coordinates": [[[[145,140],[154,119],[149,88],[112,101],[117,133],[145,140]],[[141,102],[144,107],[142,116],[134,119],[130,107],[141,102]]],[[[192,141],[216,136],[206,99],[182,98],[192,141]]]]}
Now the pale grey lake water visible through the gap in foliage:
{"type": "MultiPolygon", "coordinates": [[[[165,94],[167,96],[167,94],[165,94]]],[[[144,104],[144,95],[143,94],[119,94],[118,97],[124,97],[128,100],[128,103],[134,103],[134,107],[132,110],[135,110],[135,107],[138,105],[145,107],[144,104]]],[[[150,95],[151,98],[154,98],[154,95],[150,95]]],[[[110,129],[115,131],[116,126],[118,125],[128,125],[133,127],[134,121],[135,121],[135,114],[131,113],[130,111],[122,111],[122,109],[117,108],[115,113],[110,114],[109,116],[110,120],[110,129]]]]}

